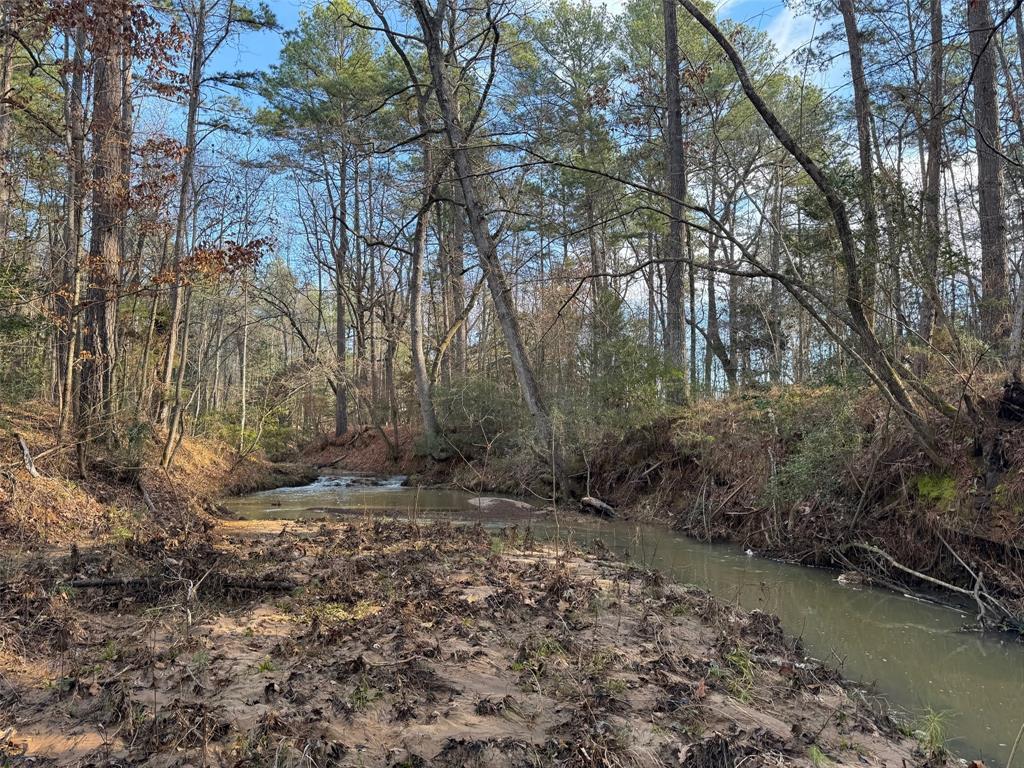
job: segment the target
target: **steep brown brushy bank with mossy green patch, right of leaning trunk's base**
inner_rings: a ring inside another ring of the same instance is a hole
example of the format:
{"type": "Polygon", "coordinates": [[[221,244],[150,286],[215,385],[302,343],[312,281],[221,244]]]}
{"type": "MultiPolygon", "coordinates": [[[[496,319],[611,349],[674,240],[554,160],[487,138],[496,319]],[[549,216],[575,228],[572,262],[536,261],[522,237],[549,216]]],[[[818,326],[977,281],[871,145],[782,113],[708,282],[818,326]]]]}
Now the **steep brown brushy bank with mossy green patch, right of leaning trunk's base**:
{"type": "Polygon", "coordinates": [[[1020,615],[1024,429],[999,406],[997,390],[981,400],[992,426],[973,437],[936,430],[937,469],[873,391],[751,392],[607,441],[591,472],[611,503],[698,538],[922,584],[902,565],[1020,615]]]}

